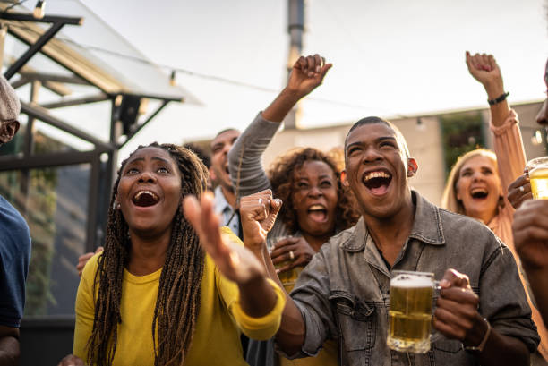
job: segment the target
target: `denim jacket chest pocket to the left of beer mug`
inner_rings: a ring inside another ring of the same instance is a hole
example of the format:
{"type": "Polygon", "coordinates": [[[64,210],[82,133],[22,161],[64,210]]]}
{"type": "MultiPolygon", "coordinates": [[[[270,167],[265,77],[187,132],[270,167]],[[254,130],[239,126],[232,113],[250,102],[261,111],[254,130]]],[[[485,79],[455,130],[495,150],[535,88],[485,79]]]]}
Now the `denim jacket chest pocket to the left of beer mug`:
{"type": "Polygon", "coordinates": [[[337,311],[341,343],[347,352],[371,351],[375,345],[375,308],[355,295],[337,291],[330,294],[330,302],[337,311]]]}

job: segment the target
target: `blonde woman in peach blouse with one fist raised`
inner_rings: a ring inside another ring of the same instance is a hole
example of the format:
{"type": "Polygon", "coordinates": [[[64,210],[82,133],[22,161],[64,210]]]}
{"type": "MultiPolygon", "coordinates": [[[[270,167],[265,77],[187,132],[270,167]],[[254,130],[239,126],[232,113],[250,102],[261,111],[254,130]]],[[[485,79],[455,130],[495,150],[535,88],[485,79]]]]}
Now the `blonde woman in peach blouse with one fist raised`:
{"type": "MultiPolygon", "coordinates": [[[[509,246],[519,263],[512,236],[514,209],[506,199],[509,184],[523,174],[526,165],[518,115],[509,108],[501,70],[492,55],[467,52],[467,66],[468,72],[487,92],[494,152],[475,149],[458,158],[445,185],[441,207],[474,217],[489,226],[509,246]]],[[[530,295],[527,281],[520,272],[530,295]]],[[[537,352],[531,355],[531,364],[548,365],[548,330],[529,297],[528,301],[541,336],[537,352]]]]}

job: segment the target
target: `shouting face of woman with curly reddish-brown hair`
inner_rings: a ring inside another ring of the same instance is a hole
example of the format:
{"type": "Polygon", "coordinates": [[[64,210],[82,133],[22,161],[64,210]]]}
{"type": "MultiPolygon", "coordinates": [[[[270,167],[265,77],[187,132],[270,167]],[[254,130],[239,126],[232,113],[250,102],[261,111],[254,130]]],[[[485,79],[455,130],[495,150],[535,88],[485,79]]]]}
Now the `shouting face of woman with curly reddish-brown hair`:
{"type": "Polygon", "coordinates": [[[305,161],[293,175],[291,200],[300,229],[313,236],[335,233],[337,177],[323,161],[305,161]]]}

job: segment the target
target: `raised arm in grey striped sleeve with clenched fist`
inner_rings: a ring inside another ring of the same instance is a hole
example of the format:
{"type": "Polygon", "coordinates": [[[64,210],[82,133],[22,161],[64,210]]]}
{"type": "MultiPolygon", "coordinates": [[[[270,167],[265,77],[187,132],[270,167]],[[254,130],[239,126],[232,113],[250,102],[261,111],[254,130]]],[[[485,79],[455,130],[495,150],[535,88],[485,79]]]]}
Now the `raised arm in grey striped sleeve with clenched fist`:
{"type": "Polygon", "coordinates": [[[238,197],[270,188],[262,167],[262,154],[287,113],[321,84],[330,67],[320,55],[301,56],[293,66],[286,88],[236,140],[228,153],[228,170],[238,197]]]}

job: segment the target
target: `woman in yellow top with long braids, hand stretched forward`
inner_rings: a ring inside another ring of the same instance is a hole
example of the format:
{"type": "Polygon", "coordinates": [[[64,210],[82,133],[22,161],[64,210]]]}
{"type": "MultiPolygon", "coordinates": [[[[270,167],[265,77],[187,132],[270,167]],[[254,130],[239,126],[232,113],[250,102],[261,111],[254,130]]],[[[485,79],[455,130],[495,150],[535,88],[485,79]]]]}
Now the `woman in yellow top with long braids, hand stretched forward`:
{"type": "Polygon", "coordinates": [[[184,218],[198,209],[183,209],[184,196],[200,197],[206,181],[201,160],[175,145],[140,147],[122,163],[105,250],[83,270],[74,354],[62,365],[244,365],[240,330],[276,333],[285,297],[252,252],[218,230],[211,200],[201,208],[205,240],[184,218]]]}

